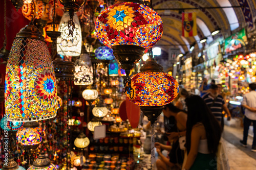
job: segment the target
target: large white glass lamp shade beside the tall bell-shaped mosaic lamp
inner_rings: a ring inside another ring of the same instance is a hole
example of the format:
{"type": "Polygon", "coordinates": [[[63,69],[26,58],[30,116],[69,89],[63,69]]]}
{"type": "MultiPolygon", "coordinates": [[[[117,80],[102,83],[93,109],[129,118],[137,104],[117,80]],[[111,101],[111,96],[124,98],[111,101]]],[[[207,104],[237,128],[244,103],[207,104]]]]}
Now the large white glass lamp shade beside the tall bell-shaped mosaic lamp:
{"type": "Polygon", "coordinates": [[[80,56],[82,32],[79,19],[77,14],[74,14],[75,29],[72,37],[72,35],[69,35],[69,17],[69,13],[65,12],[60,20],[58,32],[61,32],[61,35],[57,38],[57,53],[63,56],[80,56]]]}

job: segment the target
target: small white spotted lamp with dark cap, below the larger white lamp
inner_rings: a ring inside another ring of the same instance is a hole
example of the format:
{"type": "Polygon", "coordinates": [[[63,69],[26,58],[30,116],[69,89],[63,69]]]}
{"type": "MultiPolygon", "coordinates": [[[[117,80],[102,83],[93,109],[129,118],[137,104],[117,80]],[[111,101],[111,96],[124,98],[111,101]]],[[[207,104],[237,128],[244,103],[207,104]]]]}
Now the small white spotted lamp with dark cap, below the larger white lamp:
{"type": "Polygon", "coordinates": [[[75,85],[93,84],[93,66],[89,54],[82,45],[81,55],[75,61],[75,85]]]}

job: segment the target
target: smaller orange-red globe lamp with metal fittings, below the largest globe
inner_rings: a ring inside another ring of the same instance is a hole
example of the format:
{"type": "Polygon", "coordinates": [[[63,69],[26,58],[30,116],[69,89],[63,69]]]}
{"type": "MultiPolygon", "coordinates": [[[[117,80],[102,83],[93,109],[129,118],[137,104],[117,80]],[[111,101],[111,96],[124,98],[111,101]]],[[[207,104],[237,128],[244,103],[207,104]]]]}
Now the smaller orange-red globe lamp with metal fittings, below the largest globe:
{"type": "Polygon", "coordinates": [[[126,91],[127,98],[140,106],[144,115],[154,124],[164,105],[169,104],[177,97],[178,82],[163,72],[163,67],[157,64],[153,58],[148,59],[146,64],[140,68],[140,72],[131,79],[134,97],[130,98],[130,94],[126,91]]]}

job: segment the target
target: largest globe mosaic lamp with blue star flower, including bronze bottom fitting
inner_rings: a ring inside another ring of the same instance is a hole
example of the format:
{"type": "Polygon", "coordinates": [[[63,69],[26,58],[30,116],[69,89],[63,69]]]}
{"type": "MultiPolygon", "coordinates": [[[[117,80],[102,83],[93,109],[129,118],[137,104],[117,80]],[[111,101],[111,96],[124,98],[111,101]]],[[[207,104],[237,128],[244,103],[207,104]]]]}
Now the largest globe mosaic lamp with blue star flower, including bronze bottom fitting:
{"type": "Polygon", "coordinates": [[[132,69],[144,50],[154,46],[163,34],[161,17],[141,0],[115,1],[98,15],[95,25],[99,40],[113,48],[125,70],[132,69]]]}

